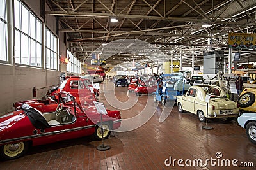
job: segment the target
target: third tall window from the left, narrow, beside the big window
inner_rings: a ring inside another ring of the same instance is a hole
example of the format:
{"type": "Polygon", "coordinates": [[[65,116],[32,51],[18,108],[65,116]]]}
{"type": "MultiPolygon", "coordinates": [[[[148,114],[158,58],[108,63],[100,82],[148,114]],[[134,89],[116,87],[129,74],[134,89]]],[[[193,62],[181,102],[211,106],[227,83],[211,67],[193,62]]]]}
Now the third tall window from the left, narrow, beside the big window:
{"type": "Polygon", "coordinates": [[[57,38],[49,29],[46,29],[46,67],[57,69],[57,38]]]}

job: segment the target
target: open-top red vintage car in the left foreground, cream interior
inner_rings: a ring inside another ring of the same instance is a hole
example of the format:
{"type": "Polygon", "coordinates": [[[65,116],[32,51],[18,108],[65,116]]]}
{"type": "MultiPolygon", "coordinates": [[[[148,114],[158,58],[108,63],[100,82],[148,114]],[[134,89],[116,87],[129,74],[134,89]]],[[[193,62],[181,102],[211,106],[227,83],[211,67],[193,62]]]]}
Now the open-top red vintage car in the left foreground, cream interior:
{"type": "Polygon", "coordinates": [[[44,145],[66,139],[93,135],[95,139],[108,138],[111,130],[121,124],[120,111],[107,110],[102,115],[95,107],[83,108],[74,96],[67,92],[58,94],[58,106],[54,111],[42,112],[23,104],[21,110],[0,117],[0,156],[3,159],[22,157],[30,146],[44,145]]]}

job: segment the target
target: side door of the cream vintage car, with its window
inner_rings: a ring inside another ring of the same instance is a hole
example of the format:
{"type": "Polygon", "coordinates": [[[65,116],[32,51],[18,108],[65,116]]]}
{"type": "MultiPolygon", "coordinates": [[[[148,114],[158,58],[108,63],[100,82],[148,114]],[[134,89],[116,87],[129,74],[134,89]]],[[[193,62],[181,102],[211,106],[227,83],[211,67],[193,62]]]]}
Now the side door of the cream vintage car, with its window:
{"type": "Polygon", "coordinates": [[[195,112],[196,89],[190,88],[182,100],[182,108],[191,113],[195,112]]]}

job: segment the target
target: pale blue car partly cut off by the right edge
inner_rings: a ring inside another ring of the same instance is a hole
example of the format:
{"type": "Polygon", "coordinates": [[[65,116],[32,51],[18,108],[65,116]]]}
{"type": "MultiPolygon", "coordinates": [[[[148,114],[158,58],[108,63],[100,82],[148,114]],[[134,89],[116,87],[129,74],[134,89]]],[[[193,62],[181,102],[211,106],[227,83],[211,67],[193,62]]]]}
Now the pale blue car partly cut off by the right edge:
{"type": "Polygon", "coordinates": [[[256,144],[256,113],[243,113],[237,118],[237,122],[246,129],[248,139],[256,144]]]}

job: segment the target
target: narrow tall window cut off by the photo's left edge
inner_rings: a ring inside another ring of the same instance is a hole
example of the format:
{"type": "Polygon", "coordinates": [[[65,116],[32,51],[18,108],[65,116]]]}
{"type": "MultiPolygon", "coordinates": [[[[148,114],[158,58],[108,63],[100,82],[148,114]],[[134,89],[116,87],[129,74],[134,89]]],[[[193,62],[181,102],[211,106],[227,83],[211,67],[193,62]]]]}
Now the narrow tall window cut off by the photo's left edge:
{"type": "Polygon", "coordinates": [[[6,1],[0,0],[0,60],[7,61],[6,55],[6,1]]]}

